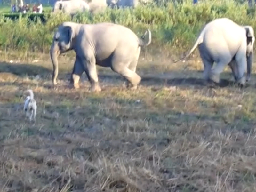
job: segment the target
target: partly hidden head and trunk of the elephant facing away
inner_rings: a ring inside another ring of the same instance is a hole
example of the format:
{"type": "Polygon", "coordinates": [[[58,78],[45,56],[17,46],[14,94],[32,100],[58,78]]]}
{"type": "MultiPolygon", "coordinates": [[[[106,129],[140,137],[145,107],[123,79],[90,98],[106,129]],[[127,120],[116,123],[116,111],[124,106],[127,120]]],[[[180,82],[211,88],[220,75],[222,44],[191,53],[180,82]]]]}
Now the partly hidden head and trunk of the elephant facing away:
{"type": "Polygon", "coordinates": [[[253,44],[254,44],[254,31],[251,26],[244,26],[247,37],[246,59],[247,59],[247,77],[246,81],[249,81],[252,73],[252,60],[253,60],[253,44]]]}

